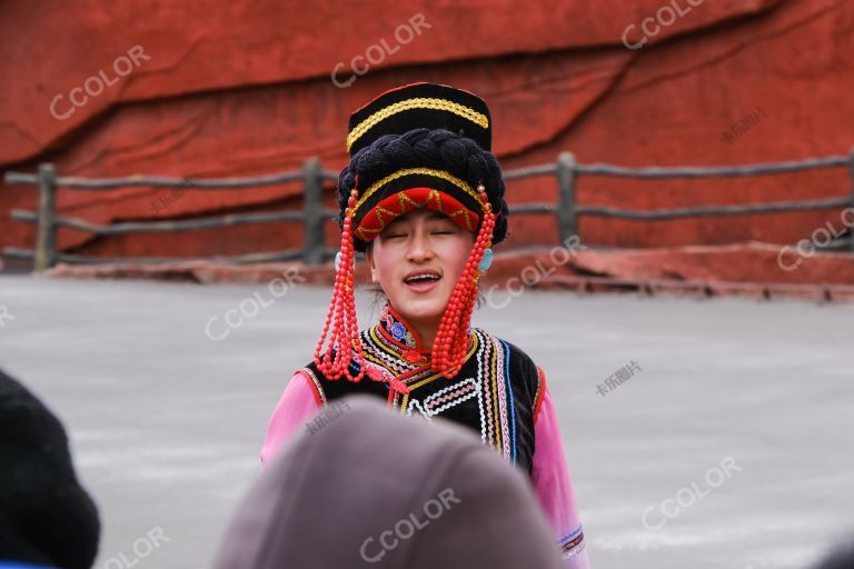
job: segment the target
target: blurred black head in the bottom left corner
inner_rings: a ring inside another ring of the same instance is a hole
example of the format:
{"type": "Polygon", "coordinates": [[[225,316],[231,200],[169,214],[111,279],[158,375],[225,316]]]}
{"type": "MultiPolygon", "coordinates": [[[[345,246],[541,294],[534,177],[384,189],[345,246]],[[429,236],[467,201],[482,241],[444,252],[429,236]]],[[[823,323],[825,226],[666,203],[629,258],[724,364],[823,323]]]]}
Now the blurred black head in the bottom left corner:
{"type": "Polygon", "coordinates": [[[62,425],[0,370],[0,567],[88,569],[98,510],[80,487],[62,425]]]}

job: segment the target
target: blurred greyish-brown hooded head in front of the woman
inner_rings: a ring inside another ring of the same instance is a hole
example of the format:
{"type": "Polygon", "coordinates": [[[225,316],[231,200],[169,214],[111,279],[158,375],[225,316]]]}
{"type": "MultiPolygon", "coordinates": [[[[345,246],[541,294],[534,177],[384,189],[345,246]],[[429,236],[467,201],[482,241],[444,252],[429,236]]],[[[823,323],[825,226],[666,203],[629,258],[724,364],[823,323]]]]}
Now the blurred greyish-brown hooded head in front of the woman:
{"type": "Polygon", "coordinates": [[[216,569],[562,567],[528,482],[463,428],[325,408],[239,508],[216,569]]]}

